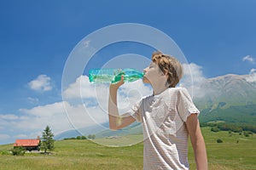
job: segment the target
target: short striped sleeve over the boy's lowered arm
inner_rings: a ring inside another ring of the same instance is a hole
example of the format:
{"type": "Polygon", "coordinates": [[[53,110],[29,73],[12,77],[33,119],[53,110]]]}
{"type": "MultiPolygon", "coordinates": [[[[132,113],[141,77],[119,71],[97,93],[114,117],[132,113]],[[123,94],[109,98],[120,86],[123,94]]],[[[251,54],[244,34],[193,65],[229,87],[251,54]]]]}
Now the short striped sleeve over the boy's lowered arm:
{"type": "Polygon", "coordinates": [[[193,100],[186,88],[179,88],[177,92],[177,112],[183,122],[187,121],[191,114],[200,114],[200,111],[195,107],[193,100]]]}

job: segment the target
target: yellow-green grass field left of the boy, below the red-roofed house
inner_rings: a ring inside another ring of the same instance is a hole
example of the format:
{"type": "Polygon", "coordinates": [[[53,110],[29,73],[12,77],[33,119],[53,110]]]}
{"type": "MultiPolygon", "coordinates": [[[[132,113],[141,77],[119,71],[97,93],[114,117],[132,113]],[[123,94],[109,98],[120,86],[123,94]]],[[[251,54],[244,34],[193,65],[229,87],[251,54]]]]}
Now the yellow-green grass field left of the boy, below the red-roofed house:
{"type": "Polygon", "coordinates": [[[0,169],[143,169],[143,144],[131,147],[105,147],[90,140],[55,141],[52,155],[28,153],[6,155],[12,144],[0,145],[0,169]]]}

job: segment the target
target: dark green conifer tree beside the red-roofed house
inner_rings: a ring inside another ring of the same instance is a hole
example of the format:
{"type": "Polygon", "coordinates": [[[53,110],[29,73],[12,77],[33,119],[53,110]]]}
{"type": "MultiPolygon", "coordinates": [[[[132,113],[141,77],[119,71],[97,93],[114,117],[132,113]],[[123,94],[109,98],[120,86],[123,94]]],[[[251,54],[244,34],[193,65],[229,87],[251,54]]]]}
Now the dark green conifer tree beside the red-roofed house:
{"type": "Polygon", "coordinates": [[[54,149],[54,133],[51,133],[51,129],[47,125],[44,129],[42,140],[41,140],[41,149],[46,153],[47,150],[51,151],[54,149]]]}

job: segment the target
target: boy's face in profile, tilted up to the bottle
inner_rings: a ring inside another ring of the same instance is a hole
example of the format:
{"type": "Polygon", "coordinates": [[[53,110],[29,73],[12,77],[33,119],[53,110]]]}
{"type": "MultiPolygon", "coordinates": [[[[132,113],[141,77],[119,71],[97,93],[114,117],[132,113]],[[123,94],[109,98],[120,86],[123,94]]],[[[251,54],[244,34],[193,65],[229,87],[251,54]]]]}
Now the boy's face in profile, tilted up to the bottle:
{"type": "Polygon", "coordinates": [[[165,77],[163,72],[160,71],[159,66],[154,62],[151,62],[150,65],[148,65],[148,67],[145,68],[143,71],[145,73],[143,77],[144,83],[152,84],[153,82],[160,81],[160,77],[165,77]]]}

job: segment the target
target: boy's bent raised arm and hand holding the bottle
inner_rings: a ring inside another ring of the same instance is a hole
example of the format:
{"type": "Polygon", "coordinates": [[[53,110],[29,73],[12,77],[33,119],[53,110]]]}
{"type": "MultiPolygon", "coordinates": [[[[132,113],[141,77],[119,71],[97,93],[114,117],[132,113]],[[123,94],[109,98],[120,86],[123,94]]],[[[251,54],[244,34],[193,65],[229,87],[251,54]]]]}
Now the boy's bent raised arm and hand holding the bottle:
{"type": "Polygon", "coordinates": [[[117,83],[110,84],[109,86],[109,99],[108,99],[108,119],[109,128],[112,130],[117,130],[122,127],[130,125],[135,122],[135,118],[132,116],[119,116],[119,110],[117,107],[117,91],[118,88],[124,84],[124,77],[117,83]]]}

